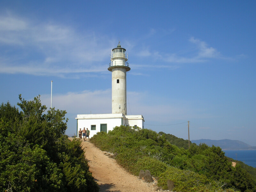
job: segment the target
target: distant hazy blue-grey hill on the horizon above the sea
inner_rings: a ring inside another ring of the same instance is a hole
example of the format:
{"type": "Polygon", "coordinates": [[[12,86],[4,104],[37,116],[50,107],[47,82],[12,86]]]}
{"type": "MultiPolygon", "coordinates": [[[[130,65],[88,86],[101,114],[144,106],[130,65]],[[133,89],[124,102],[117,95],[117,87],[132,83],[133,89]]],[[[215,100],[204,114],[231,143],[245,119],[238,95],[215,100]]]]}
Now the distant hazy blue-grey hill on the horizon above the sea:
{"type": "Polygon", "coordinates": [[[247,143],[244,143],[242,141],[238,140],[229,140],[229,139],[223,139],[223,140],[210,140],[210,139],[200,139],[200,140],[191,140],[192,143],[196,143],[199,145],[200,143],[205,143],[208,146],[219,146],[221,149],[256,149],[256,147],[252,147],[248,145],[247,143]]]}

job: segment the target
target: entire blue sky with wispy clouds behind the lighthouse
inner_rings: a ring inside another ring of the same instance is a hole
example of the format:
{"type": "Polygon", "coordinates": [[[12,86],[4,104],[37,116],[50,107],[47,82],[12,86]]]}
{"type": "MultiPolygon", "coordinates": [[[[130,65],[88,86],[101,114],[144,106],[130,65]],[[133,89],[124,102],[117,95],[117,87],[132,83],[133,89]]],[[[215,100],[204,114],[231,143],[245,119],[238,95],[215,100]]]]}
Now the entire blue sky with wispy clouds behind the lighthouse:
{"type": "Polygon", "coordinates": [[[0,102],[111,113],[111,49],[128,53],[127,114],[190,140],[256,146],[256,1],[0,1],[0,102]]]}

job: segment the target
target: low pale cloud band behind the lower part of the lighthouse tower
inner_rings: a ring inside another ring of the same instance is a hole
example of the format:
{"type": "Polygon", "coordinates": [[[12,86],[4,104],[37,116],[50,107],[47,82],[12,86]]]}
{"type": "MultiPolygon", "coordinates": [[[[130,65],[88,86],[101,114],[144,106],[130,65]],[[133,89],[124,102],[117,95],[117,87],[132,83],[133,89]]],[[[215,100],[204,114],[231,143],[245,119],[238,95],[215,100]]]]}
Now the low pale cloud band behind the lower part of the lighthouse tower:
{"type": "MultiPolygon", "coordinates": [[[[41,95],[41,102],[50,108],[51,95],[41,95]]],[[[77,114],[112,113],[111,89],[53,94],[52,106],[67,111],[67,134],[73,134],[76,132],[77,114]]],[[[173,122],[183,123],[190,119],[213,119],[214,116],[207,114],[205,110],[188,101],[158,98],[149,92],[127,92],[127,114],[142,115],[148,129],[157,129],[157,126],[149,126],[152,122],[167,125],[173,122]]]]}

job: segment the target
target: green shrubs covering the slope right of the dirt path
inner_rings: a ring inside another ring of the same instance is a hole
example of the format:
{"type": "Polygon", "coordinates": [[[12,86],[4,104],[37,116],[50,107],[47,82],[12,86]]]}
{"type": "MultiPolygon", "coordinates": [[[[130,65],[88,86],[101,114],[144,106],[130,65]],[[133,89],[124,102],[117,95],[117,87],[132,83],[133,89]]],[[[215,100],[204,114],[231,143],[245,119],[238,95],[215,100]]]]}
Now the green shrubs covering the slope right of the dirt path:
{"type": "Polygon", "coordinates": [[[99,132],[91,139],[101,150],[117,153],[116,161],[129,172],[139,175],[149,170],[163,189],[180,192],[252,192],[256,178],[240,164],[231,161],[219,147],[205,144],[189,149],[172,145],[148,129],[115,127],[99,132]]]}

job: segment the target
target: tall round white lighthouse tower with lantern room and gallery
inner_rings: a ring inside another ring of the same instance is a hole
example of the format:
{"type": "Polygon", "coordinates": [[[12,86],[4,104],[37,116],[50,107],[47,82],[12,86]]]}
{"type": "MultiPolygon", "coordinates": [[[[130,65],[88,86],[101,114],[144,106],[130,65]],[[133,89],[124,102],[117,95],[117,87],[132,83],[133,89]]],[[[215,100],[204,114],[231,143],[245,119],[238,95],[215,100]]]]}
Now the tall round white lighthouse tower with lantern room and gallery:
{"type": "Polygon", "coordinates": [[[116,48],[112,49],[109,71],[112,71],[112,113],[127,115],[126,108],[126,72],[130,71],[127,62],[127,54],[121,47],[120,41],[116,48]]]}

